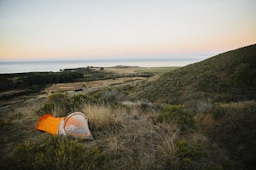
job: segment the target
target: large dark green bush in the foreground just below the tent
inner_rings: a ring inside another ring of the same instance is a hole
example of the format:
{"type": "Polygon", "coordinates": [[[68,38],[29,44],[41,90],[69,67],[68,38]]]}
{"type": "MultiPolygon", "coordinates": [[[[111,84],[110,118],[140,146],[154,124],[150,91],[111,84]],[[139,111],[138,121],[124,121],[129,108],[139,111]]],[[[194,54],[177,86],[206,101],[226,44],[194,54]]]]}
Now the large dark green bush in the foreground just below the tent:
{"type": "Polygon", "coordinates": [[[110,169],[108,156],[98,147],[56,136],[20,144],[1,164],[2,169],[110,169]]]}

